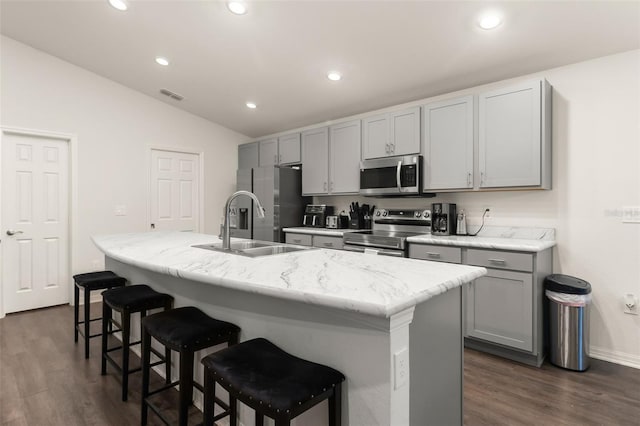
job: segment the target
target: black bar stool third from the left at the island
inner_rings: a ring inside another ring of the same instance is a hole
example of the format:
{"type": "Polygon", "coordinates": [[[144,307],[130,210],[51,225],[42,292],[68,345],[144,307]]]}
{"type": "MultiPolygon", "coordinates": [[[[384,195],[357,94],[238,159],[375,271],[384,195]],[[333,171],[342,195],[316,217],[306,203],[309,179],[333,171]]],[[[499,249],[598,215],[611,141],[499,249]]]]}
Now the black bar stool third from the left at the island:
{"type": "MultiPolygon", "coordinates": [[[[193,388],[204,392],[204,388],[193,380],[193,356],[196,351],[211,346],[238,343],[240,328],[235,324],[219,321],[207,316],[195,307],[183,307],[159,312],[142,319],[142,416],[141,424],[147,424],[148,408],[165,423],[169,421],[160,409],[149,401],[152,395],[180,385],[178,424],[186,426],[189,406],[193,399],[193,388]],[[151,338],[155,338],[166,348],[180,353],[180,376],[178,381],[149,391],[151,338]]],[[[221,400],[216,402],[228,414],[230,407],[221,400]]]]}

